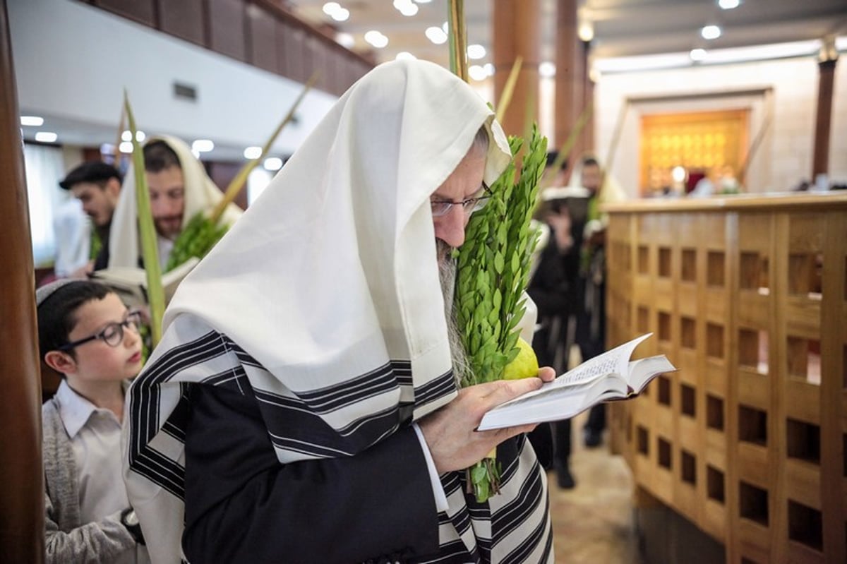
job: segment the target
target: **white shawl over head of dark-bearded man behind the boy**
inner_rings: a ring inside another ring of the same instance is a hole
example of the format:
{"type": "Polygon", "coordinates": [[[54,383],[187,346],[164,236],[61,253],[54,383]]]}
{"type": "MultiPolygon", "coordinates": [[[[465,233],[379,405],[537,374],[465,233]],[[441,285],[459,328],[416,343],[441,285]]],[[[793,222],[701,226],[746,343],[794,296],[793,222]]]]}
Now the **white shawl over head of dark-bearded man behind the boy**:
{"type": "MultiPolygon", "coordinates": [[[[182,178],[185,185],[185,207],[182,212],[182,226],[198,212],[210,212],[220,202],[224,193],[218,189],[212,179],[206,174],[203,165],[191,153],[191,148],[184,141],[169,135],[151,137],[152,141],[164,141],[174,150],[180,159],[182,178]]],[[[222,220],[231,225],[241,217],[241,208],[230,204],[224,210],[222,220]]],[[[158,235],[161,239],[161,235],[158,235]]],[[[120,189],[118,205],[114,208],[112,227],[108,241],[108,266],[137,267],[138,257],[141,256],[141,243],[138,237],[138,207],[136,205],[136,174],[134,165],[126,171],[124,184],[120,189]]],[[[164,268],[164,264],[160,265],[164,268]]]]}

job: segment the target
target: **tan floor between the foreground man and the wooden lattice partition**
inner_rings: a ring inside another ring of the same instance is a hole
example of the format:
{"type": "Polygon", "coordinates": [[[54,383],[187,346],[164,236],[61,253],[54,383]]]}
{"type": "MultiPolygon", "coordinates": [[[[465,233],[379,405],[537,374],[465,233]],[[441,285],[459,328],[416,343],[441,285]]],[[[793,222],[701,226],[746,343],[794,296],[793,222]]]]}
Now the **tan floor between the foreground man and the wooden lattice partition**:
{"type": "Polygon", "coordinates": [[[559,489],[556,473],[547,474],[556,564],[643,564],[634,533],[632,474],[621,456],[609,453],[607,440],[584,447],[584,421],[585,414],[572,425],[576,487],[559,489]]]}

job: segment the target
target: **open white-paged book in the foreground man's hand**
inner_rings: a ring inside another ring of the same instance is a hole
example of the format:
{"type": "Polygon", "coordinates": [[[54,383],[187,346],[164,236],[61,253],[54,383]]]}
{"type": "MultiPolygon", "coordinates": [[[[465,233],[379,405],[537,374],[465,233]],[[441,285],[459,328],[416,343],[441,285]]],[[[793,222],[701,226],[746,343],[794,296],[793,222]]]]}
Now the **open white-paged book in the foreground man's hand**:
{"type": "Polygon", "coordinates": [[[606,351],[541,386],[485,413],[479,431],[527,423],[559,421],[584,412],[601,401],[638,395],[650,380],[676,368],[664,355],[629,361],[648,333],[606,351]]]}

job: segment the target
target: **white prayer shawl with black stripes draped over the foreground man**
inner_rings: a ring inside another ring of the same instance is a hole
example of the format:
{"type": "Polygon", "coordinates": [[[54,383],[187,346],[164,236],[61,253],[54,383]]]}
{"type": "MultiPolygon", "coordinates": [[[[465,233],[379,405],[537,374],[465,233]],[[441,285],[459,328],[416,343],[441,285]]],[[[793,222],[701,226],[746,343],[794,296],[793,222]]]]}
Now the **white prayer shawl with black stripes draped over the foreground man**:
{"type": "MultiPolygon", "coordinates": [[[[435,64],[379,65],[181,283],[127,395],[125,478],[153,561],[180,556],[185,383],[248,379],[283,464],[355,455],[455,397],[429,196],[482,125],[490,184],[510,158],[490,108],[435,64]],[[204,338],[208,357],[183,352],[204,338]],[[222,347],[241,360],[238,374],[225,372],[222,347]],[[315,423],[271,429],[268,413],[286,409],[315,423]],[[335,433],[307,435],[325,425],[335,433]]],[[[469,513],[459,473],[442,476],[442,550],[552,561],[545,476],[528,442],[511,466],[484,515],[469,513]],[[502,538],[491,539],[499,509],[502,538]]]]}

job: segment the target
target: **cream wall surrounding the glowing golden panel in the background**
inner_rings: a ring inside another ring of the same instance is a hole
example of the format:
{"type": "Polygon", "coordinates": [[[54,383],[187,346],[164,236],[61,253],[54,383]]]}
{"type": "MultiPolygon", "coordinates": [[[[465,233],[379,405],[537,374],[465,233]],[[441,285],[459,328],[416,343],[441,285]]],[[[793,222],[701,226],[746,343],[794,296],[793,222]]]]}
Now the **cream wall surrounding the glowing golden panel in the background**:
{"type": "MultiPolygon", "coordinates": [[[[603,75],[595,90],[596,151],[607,158],[622,105],[639,97],[673,97],[762,89],[770,95],[697,101],[632,103],[612,161],[612,173],[631,197],[639,193],[639,126],[646,113],[749,108],[750,141],[771,113],[770,127],[750,162],[747,191],[787,191],[811,179],[818,68],[814,58],[603,75]]],[[[847,61],[836,65],[829,176],[847,182],[847,61]]]]}

